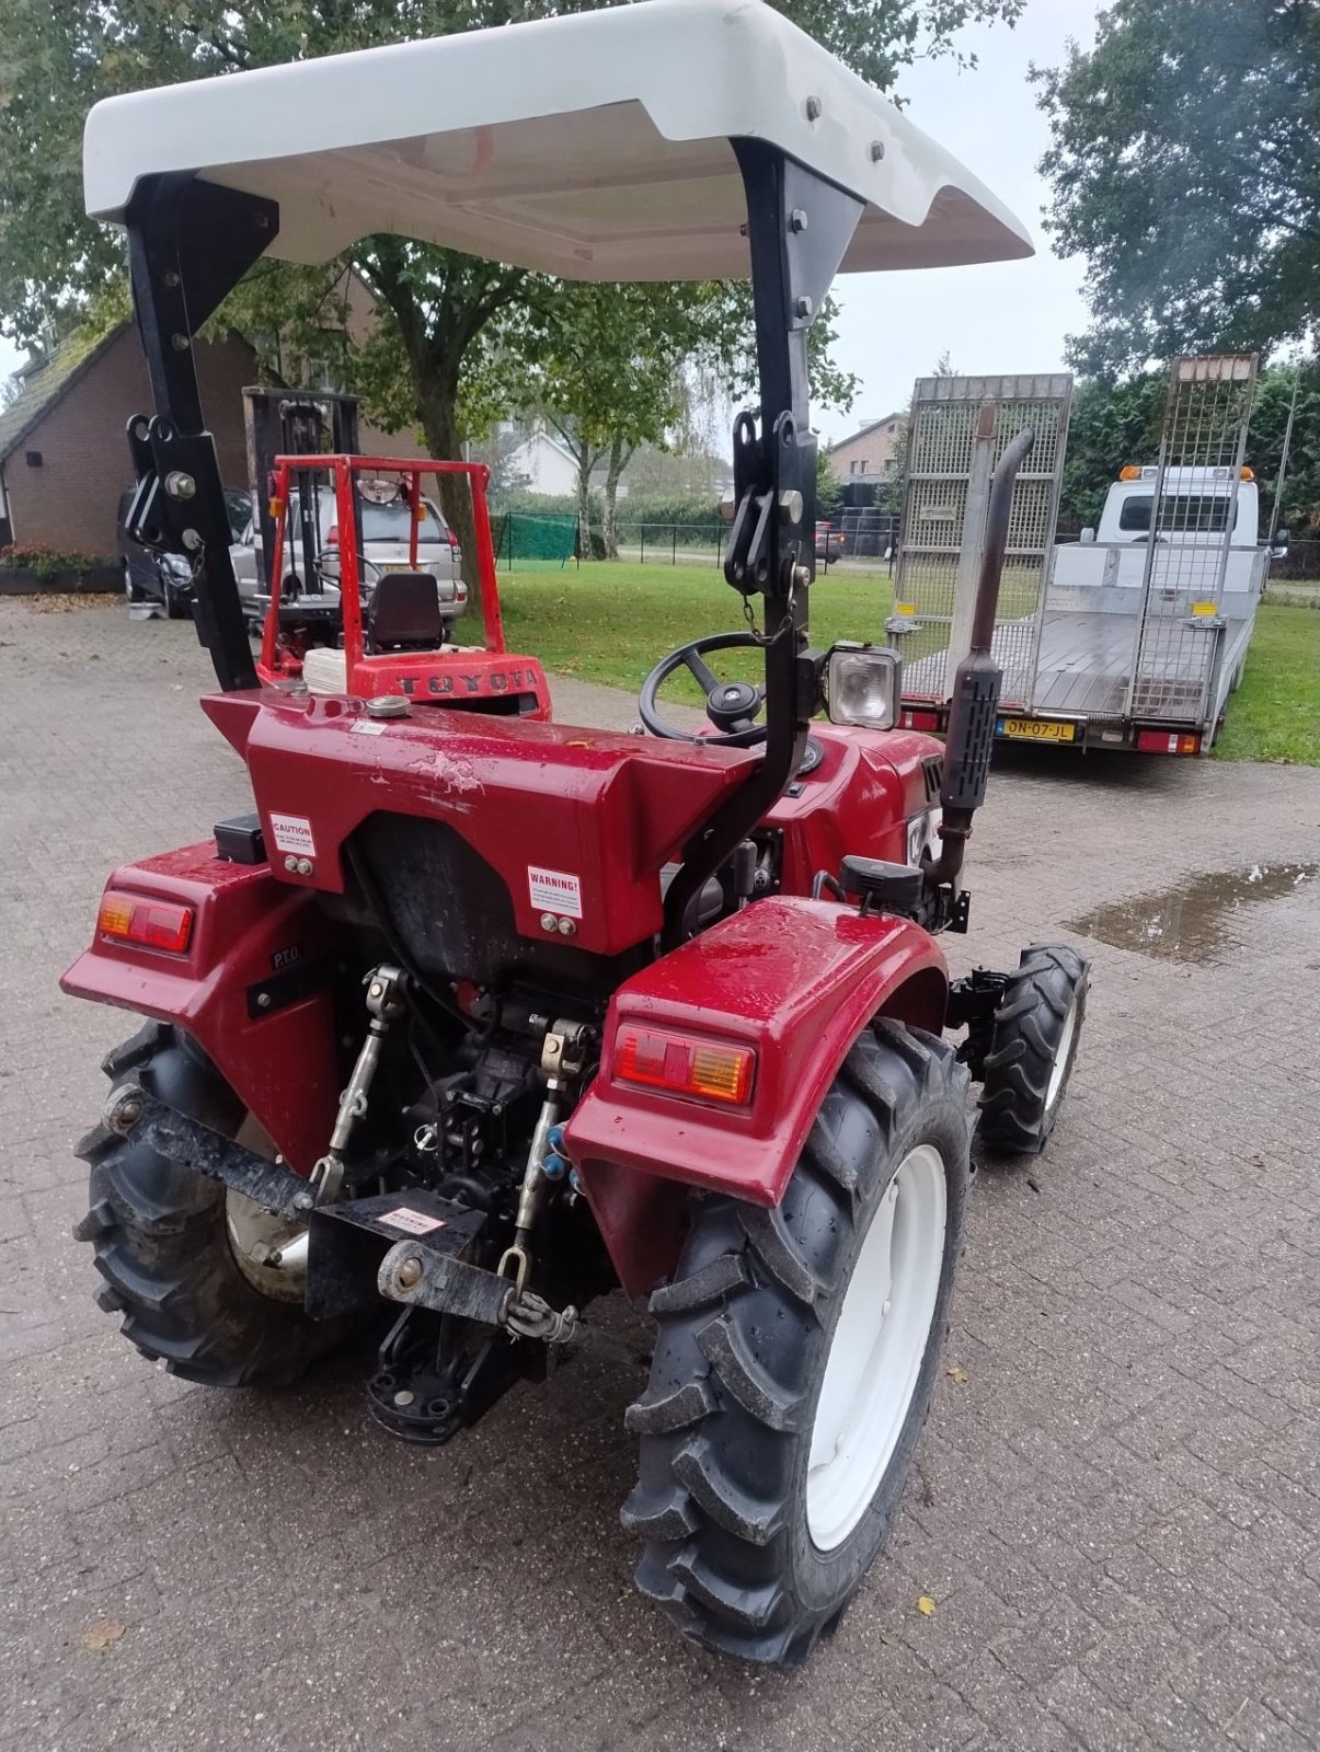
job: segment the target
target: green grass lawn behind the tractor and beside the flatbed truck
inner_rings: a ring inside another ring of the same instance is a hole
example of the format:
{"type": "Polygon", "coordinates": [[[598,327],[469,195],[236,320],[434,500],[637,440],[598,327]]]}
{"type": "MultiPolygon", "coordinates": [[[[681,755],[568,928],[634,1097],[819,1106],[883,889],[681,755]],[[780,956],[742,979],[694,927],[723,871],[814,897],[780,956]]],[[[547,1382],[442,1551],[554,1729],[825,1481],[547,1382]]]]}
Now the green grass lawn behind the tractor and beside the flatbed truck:
{"type": "MultiPolygon", "coordinates": [[[[742,599],[712,566],[594,564],[500,573],[510,650],[542,659],[554,675],[631,692],[685,639],[736,632],[742,599]]],[[[812,585],[812,643],[884,641],[892,587],[887,578],[829,571],[812,585]]],[[[754,597],[759,610],[759,599],[754,597]]],[[[717,671],[759,678],[759,659],[735,653],[717,671]]],[[[696,687],[675,678],[671,697],[699,704],[696,687]]],[[[1231,697],[1220,760],[1283,760],[1320,766],[1320,611],[1266,603],[1231,697]]]]}

